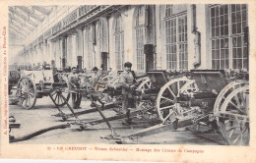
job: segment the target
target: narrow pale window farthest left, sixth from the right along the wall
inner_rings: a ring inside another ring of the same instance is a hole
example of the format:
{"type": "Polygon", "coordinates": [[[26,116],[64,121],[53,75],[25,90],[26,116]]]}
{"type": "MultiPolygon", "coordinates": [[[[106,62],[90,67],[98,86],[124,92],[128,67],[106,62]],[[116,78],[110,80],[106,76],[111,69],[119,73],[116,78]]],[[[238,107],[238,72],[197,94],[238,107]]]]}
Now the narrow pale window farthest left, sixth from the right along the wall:
{"type": "Polygon", "coordinates": [[[88,70],[93,69],[93,27],[86,27],[86,32],[85,32],[85,56],[84,58],[84,66],[88,70]]]}

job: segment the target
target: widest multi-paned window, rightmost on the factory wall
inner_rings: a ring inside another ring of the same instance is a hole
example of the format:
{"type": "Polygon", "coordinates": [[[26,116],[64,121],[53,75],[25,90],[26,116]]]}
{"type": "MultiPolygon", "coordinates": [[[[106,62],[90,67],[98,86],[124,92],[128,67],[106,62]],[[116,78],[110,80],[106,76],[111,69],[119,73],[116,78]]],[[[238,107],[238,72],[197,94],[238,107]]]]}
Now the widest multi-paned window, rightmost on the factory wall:
{"type": "Polygon", "coordinates": [[[213,68],[228,69],[230,58],[232,59],[231,69],[247,69],[247,45],[243,43],[243,31],[247,26],[247,10],[245,4],[211,7],[213,68]],[[231,33],[228,31],[229,27],[231,33]],[[229,38],[231,47],[229,47],[229,38]]]}

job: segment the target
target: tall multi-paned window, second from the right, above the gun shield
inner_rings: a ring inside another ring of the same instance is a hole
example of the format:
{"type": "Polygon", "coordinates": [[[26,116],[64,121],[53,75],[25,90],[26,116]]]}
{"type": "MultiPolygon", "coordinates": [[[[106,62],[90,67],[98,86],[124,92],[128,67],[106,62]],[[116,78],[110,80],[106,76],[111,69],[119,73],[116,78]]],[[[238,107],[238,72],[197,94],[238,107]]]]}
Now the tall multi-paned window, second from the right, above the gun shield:
{"type": "Polygon", "coordinates": [[[187,70],[186,5],[166,5],[164,23],[167,69],[187,70]]]}

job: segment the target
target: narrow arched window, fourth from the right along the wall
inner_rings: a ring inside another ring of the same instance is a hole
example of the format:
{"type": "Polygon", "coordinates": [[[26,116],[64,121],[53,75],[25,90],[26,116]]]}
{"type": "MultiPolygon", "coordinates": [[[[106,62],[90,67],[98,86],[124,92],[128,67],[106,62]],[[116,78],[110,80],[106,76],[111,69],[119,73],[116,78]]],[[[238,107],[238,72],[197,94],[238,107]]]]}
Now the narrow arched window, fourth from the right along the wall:
{"type": "Polygon", "coordinates": [[[117,70],[123,69],[124,62],[124,32],[121,15],[114,20],[114,45],[117,70]]]}

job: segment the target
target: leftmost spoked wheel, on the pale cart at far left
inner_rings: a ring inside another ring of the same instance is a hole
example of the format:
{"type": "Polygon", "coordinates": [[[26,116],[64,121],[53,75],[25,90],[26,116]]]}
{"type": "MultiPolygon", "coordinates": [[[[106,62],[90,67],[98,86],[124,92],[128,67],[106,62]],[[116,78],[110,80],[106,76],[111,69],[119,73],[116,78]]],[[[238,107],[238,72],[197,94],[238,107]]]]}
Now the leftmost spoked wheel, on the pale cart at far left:
{"type": "Polygon", "coordinates": [[[18,82],[17,96],[24,108],[32,109],[36,101],[36,87],[30,77],[23,77],[18,82]]]}

